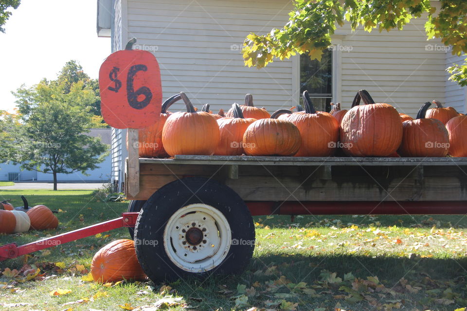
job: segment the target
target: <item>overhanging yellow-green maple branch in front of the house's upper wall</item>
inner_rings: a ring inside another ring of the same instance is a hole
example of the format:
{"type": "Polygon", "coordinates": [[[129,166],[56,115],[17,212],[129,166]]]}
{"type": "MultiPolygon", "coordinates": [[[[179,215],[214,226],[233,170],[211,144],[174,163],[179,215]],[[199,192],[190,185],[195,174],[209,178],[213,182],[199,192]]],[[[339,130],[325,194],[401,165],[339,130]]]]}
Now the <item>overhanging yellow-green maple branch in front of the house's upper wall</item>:
{"type": "MultiPolygon", "coordinates": [[[[274,58],[281,60],[306,53],[321,59],[323,50],[331,45],[331,35],[347,21],[355,31],[379,32],[402,30],[412,18],[428,15],[425,30],[428,39],[440,38],[452,47],[452,54],[467,53],[467,1],[440,0],[440,9],[430,0],[294,0],[295,8],[282,29],[266,35],[251,33],[243,46],[245,65],[267,66],[274,58]]],[[[467,63],[448,69],[450,79],[467,85],[467,63]]]]}

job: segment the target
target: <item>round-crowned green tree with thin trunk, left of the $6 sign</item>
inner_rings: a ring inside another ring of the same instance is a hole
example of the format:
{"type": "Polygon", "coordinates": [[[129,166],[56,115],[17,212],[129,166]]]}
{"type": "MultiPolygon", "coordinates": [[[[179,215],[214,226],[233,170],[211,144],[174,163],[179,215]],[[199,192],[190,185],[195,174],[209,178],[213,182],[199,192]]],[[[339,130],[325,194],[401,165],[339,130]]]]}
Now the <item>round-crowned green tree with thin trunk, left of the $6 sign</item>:
{"type": "Polygon", "coordinates": [[[3,114],[2,126],[8,159],[23,169],[54,175],[86,173],[97,168],[107,155],[107,145],[86,135],[92,125],[90,106],[96,95],[83,81],[42,80],[36,86],[20,87],[17,113],[3,114]]]}

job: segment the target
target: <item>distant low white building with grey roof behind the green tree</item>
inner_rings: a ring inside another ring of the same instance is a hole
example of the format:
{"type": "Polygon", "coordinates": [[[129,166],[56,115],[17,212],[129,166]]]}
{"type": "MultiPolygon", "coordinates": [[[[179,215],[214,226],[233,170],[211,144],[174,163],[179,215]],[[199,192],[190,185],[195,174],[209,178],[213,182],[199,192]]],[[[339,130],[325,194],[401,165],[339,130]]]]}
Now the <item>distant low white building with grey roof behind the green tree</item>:
{"type": "MultiPolygon", "coordinates": [[[[93,128],[88,133],[92,137],[100,137],[101,141],[110,146],[110,134],[111,129],[109,128],[93,128]]],[[[105,160],[98,164],[98,168],[95,170],[88,170],[86,176],[80,172],[72,174],[57,174],[58,182],[96,182],[106,183],[110,181],[110,165],[111,158],[110,154],[106,156],[105,160]]],[[[21,170],[20,165],[14,165],[12,163],[1,163],[0,164],[0,181],[37,181],[37,182],[54,182],[53,174],[39,173],[36,171],[21,170]]]]}

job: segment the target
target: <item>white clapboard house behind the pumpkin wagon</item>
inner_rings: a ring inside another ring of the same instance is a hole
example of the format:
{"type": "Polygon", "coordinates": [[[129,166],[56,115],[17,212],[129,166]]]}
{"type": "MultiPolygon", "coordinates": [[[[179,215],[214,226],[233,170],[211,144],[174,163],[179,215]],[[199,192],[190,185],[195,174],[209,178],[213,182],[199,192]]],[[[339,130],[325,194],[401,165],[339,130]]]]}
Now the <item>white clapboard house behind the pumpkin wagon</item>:
{"type": "MultiPolygon", "coordinates": [[[[313,102],[352,103],[367,89],[380,103],[412,116],[424,102],[437,99],[466,110],[466,88],[449,82],[452,56],[438,40],[427,41],[426,18],[402,31],[367,33],[345,25],[321,63],[306,56],[275,61],[264,69],[244,66],[241,46],[254,32],[280,28],[291,0],[98,0],[97,32],[110,36],[112,52],[137,38],[136,48],[154,53],[162,74],[163,98],[184,91],[194,104],[211,109],[242,103],[246,93],[269,111],[296,105],[308,89],[313,102]]],[[[438,5],[438,1],[432,1],[438,5]]],[[[171,111],[182,109],[174,105],[171,111]]],[[[112,129],[112,175],[121,184],[126,157],[125,131],[112,129]]]]}

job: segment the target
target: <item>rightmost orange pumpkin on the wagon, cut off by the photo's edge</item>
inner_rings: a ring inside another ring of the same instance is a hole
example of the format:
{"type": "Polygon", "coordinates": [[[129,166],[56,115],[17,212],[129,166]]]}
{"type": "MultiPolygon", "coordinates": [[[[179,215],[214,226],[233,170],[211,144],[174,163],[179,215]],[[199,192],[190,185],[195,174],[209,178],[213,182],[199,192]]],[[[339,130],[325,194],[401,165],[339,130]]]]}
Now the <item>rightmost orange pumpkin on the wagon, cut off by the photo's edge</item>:
{"type": "Polygon", "coordinates": [[[467,116],[457,116],[446,123],[449,133],[449,155],[467,156],[467,116]]]}

